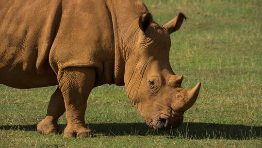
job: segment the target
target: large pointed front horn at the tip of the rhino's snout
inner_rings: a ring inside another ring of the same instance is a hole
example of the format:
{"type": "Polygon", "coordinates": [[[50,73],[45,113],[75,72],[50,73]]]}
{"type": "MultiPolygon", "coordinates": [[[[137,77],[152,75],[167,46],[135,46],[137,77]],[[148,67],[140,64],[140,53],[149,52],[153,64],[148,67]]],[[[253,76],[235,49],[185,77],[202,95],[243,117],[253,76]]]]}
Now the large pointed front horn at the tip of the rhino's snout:
{"type": "Polygon", "coordinates": [[[184,111],[188,110],[195,104],[200,87],[201,87],[201,83],[199,82],[193,89],[188,90],[186,92],[186,98],[184,99],[184,103],[185,103],[184,111]]]}

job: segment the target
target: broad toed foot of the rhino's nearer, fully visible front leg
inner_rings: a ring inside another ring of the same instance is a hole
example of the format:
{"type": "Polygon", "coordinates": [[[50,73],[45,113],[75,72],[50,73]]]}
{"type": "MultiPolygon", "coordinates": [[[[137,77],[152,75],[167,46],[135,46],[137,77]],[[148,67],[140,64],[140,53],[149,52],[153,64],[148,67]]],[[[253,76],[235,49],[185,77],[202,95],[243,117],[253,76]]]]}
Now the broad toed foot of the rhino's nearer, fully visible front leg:
{"type": "Polygon", "coordinates": [[[64,130],[64,137],[76,137],[76,138],[85,138],[91,137],[93,134],[91,129],[81,127],[81,128],[74,128],[73,126],[67,125],[66,129],[64,130]]]}

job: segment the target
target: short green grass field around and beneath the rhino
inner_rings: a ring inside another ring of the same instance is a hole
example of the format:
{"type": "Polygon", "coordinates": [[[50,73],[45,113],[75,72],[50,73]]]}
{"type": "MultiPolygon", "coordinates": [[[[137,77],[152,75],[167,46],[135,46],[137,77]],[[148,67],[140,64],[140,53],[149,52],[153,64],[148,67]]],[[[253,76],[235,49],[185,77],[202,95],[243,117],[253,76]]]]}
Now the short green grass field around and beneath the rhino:
{"type": "MultiPolygon", "coordinates": [[[[172,35],[170,63],[184,75],[183,87],[198,81],[196,104],[178,129],[149,129],[124,87],[95,88],[86,123],[93,138],[41,135],[55,87],[17,90],[0,85],[0,147],[7,148],[262,148],[262,1],[144,0],[156,22],[178,12],[189,18],[172,35]]],[[[65,115],[59,120],[65,127],[65,115]]]]}

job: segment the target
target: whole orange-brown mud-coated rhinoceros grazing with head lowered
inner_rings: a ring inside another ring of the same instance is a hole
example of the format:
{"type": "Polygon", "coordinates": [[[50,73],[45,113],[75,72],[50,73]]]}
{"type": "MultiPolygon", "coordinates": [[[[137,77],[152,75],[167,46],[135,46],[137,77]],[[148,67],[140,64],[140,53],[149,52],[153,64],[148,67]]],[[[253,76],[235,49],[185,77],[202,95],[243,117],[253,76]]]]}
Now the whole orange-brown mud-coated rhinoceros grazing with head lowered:
{"type": "Polygon", "coordinates": [[[58,85],[42,134],[88,137],[89,93],[103,84],[125,85],[131,102],[154,129],[180,126],[200,89],[181,87],[169,63],[170,34],[186,17],[164,25],[140,0],[1,0],[0,83],[18,89],[58,85]]]}

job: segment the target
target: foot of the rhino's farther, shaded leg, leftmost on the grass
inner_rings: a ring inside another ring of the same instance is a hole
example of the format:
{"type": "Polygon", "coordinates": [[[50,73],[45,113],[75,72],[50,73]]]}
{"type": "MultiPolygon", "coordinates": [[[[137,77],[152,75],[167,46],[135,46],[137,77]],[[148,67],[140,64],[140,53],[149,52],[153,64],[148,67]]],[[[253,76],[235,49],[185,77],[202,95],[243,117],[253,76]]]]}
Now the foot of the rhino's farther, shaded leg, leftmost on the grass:
{"type": "Polygon", "coordinates": [[[37,125],[37,131],[44,135],[58,134],[61,133],[62,128],[59,127],[57,123],[53,123],[51,121],[47,121],[46,119],[43,119],[37,125]]]}

